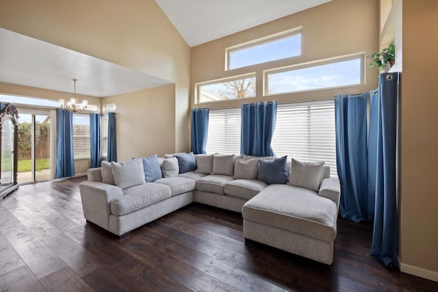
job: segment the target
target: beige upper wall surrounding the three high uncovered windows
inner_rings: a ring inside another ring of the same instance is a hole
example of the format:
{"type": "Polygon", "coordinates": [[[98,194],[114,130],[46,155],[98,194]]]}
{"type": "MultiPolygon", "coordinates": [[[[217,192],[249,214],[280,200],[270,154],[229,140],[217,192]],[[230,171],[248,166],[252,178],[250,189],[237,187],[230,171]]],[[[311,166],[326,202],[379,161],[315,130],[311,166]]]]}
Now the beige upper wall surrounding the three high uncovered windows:
{"type": "MultiPolygon", "coordinates": [[[[376,68],[365,66],[365,85],[312,92],[297,92],[276,96],[262,96],[262,70],[278,68],[318,59],[365,52],[370,55],[378,49],[378,1],[335,0],[316,8],[292,14],[276,21],[192,48],[191,104],[192,107],[239,107],[256,101],[309,101],[333,98],[335,94],[361,93],[378,85],[376,68]],[[366,25],[364,25],[366,24],[366,25]],[[225,71],[225,48],[256,38],[285,31],[302,25],[302,55],[289,59],[225,71]],[[257,97],[194,105],[194,83],[256,72],[257,97]]],[[[365,64],[367,64],[365,62],[365,64]]]]}

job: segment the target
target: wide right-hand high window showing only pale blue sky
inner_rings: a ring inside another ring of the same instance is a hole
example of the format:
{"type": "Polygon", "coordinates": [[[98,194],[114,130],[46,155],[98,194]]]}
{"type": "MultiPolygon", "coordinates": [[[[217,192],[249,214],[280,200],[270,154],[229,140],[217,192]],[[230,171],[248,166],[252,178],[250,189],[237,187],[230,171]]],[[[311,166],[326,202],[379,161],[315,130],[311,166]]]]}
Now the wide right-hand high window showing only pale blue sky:
{"type": "Polygon", "coordinates": [[[265,95],[364,83],[363,55],[265,70],[265,95]]]}

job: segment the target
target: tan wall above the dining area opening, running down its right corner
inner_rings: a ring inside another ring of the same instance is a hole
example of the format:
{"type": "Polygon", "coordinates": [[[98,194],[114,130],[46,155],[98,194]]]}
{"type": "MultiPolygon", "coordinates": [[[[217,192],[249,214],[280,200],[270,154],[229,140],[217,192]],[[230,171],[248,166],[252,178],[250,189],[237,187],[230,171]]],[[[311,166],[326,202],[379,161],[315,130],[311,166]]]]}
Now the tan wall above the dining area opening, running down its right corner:
{"type": "Polygon", "coordinates": [[[175,83],[167,132],[173,150],[188,150],[190,47],[155,1],[0,0],[0,7],[0,27],[175,83]]]}

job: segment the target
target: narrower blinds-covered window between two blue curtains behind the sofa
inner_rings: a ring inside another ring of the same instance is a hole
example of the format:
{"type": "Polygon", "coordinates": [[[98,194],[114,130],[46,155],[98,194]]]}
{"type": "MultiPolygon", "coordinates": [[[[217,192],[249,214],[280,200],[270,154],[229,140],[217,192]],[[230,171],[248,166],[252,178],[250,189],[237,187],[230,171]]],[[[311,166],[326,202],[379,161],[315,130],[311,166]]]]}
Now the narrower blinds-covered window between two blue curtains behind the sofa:
{"type": "Polygon", "coordinates": [[[207,154],[240,154],[240,109],[211,109],[207,154]]]}

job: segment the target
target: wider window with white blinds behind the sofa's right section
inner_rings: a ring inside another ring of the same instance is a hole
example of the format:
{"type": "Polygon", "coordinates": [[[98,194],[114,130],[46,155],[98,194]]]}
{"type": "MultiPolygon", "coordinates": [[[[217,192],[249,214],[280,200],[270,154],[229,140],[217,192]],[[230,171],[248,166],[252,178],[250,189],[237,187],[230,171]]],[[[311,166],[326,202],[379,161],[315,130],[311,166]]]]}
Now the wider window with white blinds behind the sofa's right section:
{"type": "Polygon", "coordinates": [[[271,146],[277,157],[324,161],[337,176],[335,103],[279,105],[271,146]]]}

